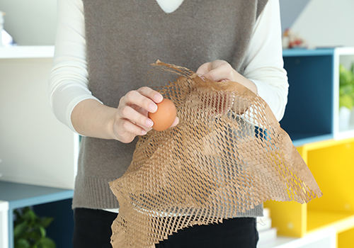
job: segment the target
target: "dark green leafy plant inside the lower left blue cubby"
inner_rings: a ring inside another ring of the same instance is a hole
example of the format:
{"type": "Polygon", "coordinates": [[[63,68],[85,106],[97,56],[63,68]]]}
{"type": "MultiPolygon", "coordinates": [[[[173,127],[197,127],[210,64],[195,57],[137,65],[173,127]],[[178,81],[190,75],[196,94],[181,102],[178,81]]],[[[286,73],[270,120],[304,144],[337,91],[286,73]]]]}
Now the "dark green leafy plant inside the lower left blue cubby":
{"type": "Polygon", "coordinates": [[[55,248],[55,242],[46,237],[45,228],[53,218],[38,217],[29,207],[13,211],[15,248],[55,248]]]}

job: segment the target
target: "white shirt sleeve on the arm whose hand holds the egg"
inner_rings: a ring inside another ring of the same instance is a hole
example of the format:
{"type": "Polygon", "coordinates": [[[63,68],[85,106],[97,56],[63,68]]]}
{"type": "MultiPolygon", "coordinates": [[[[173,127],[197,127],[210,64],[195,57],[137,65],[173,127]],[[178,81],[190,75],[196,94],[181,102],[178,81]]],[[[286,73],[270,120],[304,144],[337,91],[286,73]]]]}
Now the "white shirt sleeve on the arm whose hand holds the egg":
{"type": "MultiPolygon", "coordinates": [[[[50,106],[55,116],[71,128],[74,107],[96,99],[88,89],[84,6],[81,0],[57,1],[55,55],[49,78],[50,106]]],[[[101,101],[99,101],[101,102],[101,101]]]]}

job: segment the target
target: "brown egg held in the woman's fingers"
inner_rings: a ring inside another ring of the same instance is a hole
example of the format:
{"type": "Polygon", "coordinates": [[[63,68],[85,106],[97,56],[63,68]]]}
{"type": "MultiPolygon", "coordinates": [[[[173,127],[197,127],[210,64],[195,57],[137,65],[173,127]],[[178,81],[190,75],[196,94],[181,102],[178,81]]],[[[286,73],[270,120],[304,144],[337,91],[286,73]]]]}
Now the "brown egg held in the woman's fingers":
{"type": "Polygon", "coordinates": [[[157,111],[155,113],[149,113],[149,118],[152,119],[154,125],[152,128],[156,131],[164,131],[171,127],[173,121],[176,119],[176,106],[173,102],[167,98],[156,103],[157,111]]]}

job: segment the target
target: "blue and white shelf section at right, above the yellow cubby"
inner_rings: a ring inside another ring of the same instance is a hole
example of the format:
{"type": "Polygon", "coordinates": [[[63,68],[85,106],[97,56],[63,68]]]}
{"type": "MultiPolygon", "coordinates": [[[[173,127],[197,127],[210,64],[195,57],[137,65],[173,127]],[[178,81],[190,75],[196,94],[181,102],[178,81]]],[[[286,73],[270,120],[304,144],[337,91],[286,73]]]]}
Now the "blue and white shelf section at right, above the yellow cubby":
{"type": "Polygon", "coordinates": [[[339,64],[350,68],[354,47],[289,49],[282,55],[290,88],[280,125],[294,144],[354,137],[354,117],[346,130],[338,120],[339,64]]]}

